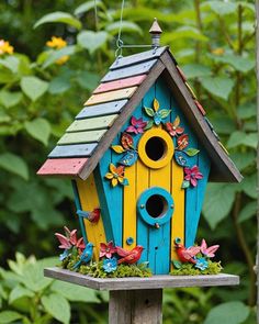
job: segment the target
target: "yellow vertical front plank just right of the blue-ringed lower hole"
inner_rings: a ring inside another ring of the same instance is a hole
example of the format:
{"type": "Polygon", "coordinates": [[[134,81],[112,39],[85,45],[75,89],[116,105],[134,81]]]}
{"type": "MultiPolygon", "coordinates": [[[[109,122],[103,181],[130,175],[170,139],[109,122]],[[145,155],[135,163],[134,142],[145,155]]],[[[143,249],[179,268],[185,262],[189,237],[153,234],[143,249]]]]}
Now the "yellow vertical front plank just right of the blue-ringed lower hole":
{"type": "Polygon", "coordinates": [[[178,259],[174,246],[174,239],[181,238],[184,244],[184,189],[181,189],[183,181],[183,168],[174,159],[172,166],[172,198],[174,201],[174,213],[171,219],[171,259],[178,259]]]}

